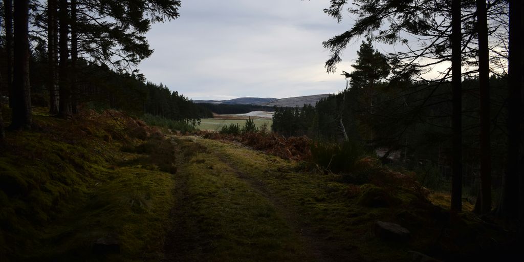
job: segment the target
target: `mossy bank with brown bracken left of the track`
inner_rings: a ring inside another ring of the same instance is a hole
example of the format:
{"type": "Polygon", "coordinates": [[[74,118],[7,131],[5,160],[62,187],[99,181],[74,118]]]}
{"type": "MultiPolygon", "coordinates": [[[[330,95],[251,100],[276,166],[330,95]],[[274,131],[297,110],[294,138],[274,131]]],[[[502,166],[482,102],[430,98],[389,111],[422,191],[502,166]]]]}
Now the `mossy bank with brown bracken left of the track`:
{"type": "Polygon", "coordinates": [[[171,141],[118,111],[45,111],[1,145],[0,260],[158,259],[174,201],[171,141]]]}

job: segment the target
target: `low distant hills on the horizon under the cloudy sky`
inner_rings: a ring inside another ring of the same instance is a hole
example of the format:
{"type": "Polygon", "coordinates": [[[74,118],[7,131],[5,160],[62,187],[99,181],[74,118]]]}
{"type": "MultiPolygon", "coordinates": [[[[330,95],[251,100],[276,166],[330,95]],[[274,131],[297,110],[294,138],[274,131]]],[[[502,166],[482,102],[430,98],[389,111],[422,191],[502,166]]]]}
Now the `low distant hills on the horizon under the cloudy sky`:
{"type": "Polygon", "coordinates": [[[327,96],[329,96],[329,94],[288,97],[285,99],[276,99],[271,97],[239,97],[232,100],[194,100],[193,103],[301,107],[304,104],[314,105],[316,101],[319,101],[322,97],[327,96]]]}

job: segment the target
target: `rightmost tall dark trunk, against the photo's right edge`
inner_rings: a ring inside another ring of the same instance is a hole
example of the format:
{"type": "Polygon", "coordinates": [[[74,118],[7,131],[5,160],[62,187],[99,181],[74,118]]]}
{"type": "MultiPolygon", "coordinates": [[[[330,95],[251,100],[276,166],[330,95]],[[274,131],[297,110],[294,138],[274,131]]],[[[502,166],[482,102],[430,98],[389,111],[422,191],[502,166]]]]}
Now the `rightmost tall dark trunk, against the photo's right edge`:
{"type": "MultiPolygon", "coordinates": [[[[508,162],[503,182],[503,195],[499,214],[508,220],[517,219],[519,209],[519,184],[522,170],[519,172],[519,148],[521,134],[520,122],[522,110],[522,2],[509,1],[509,63],[508,63],[508,162]]],[[[522,193],[522,192],[520,192],[522,193]]]]}

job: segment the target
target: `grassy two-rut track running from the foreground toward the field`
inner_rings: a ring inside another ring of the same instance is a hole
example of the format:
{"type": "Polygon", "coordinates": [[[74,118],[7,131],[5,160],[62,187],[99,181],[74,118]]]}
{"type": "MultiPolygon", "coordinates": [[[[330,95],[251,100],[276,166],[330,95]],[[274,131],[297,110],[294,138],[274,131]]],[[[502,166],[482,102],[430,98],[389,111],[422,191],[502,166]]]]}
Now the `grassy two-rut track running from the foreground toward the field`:
{"type": "Polygon", "coordinates": [[[354,245],[310,219],[308,201],[279,188],[308,178],[290,162],[216,140],[172,139],[179,169],[165,261],[363,261],[354,245]]]}

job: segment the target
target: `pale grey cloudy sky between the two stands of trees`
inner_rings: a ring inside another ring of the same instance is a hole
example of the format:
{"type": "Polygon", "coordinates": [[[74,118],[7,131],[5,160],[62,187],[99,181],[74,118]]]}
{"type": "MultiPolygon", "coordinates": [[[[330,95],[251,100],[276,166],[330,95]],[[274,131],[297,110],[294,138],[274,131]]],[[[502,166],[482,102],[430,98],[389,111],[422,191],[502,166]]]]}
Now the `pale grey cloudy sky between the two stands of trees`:
{"type": "Polygon", "coordinates": [[[139,69],[193,100],[335,93],[361,40],[345,50],[340,72],[326,73],[322,41],[353,22],[337,24],[326,7],[329,0],[185,0],[178,19],[148,32],[155,52],[139,69]]]}

